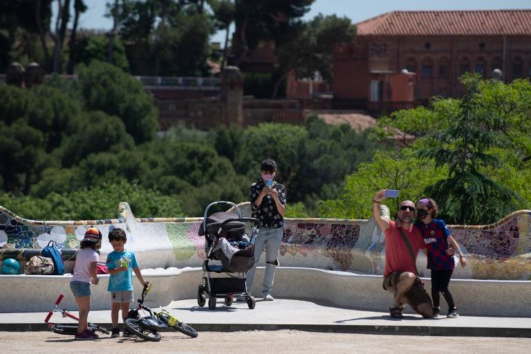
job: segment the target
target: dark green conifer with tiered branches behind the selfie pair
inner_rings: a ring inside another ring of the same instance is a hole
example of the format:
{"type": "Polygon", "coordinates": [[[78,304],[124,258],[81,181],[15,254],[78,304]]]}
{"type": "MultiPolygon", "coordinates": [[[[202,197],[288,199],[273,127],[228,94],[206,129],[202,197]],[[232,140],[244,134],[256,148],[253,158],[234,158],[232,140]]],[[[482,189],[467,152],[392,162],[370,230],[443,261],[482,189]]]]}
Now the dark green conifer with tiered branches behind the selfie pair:
{"type": "Polygon", "coordinates": [[[502,118],[494,112],[479,111],[480,80],[464,76],[467,93],[458,109],[447,117],[449,127],[427,136],[429,147],[418,156],[434,160],[436,167],[447,166],[448,176],[426,192],[438,201],[449,223],[487,223],[502,218],[514,209],[516,193],[494,182],[481,167],[501,167],[499,158],[490,153],[493,147],[510,147],[510,142],[492,126],[502,118]]]}

